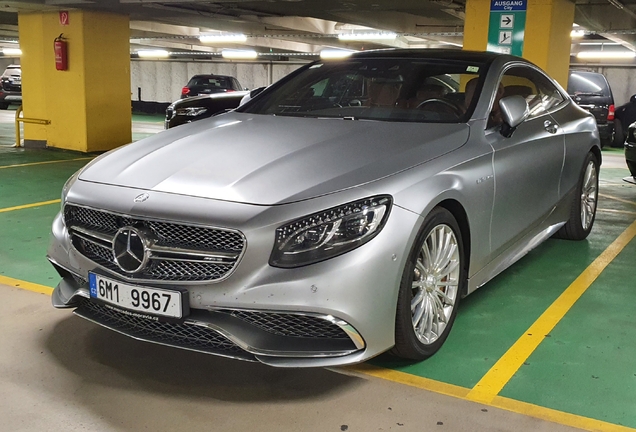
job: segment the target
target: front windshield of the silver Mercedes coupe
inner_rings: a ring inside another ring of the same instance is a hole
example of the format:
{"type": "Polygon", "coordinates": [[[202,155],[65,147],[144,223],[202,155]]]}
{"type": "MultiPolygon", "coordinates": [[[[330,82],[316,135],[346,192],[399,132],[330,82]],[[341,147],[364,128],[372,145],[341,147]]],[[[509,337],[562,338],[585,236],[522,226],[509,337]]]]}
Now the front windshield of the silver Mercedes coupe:
{"type": "Polygon", "coordinates": [[[364,58],[314,63],[273,86],[243,112],[351,120],[457,123],[470,116],[479,63],[364,58]],[[470,99],[470,100],[467,100],[470,99]]]}

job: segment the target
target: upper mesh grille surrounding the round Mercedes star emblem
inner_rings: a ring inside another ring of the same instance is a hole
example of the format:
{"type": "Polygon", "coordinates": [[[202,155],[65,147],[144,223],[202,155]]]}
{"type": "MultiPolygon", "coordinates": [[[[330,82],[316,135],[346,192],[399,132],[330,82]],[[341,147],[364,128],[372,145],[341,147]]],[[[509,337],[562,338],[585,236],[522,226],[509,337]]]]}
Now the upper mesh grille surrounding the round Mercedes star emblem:
{"type": "Polygon", "coordinates": [[[217,281],[230,274],[245,247],[244,237],[238,231],[133,218],[70,204],[64,208],[64,222],[73,245],[82,255],[138,281],[217,281]],[[145,268],[134,275],[125,273],[115,262],[111,240],[126,226],[149,233],[153,245],[179,251],[153,253],[145,268]],[[201,253],[230,256],[206,259],[201,253]]]}

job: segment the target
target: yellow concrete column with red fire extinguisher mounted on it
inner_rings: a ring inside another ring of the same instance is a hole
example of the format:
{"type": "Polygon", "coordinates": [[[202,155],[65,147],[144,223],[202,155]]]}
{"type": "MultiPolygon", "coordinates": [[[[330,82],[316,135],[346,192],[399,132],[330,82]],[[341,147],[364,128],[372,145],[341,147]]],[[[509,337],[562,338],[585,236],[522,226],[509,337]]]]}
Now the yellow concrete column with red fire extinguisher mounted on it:
{"type": "Polygon", "coordinates": [[[25,143],[81,152],[131,141],[128,17],[69,11],[18,16],[24,116],[50,120],[25,125],[25,143]],[[68,42],[68,70],[55,68],[53,41],[68,42]]]}

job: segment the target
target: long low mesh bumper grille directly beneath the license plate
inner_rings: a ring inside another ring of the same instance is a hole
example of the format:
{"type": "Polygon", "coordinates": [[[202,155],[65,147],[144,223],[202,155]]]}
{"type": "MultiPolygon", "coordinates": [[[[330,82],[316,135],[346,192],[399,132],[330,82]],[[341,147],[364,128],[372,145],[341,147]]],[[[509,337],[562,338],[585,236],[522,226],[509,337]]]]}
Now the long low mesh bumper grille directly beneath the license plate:
{"type": "Polygon", "coordinates": [[[232,341],[207,327],[132,316],[88,299],[80,301],[76,312],[84,318],[138,339],[195,351],[249,358],[249,354],[232,341]]]}

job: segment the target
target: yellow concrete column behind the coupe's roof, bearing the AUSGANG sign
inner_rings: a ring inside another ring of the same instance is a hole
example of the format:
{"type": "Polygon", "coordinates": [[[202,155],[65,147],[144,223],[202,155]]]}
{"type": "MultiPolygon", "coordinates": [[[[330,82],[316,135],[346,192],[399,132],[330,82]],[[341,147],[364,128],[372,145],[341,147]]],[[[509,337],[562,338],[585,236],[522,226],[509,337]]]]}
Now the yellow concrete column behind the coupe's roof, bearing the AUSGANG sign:
{"type": "MultiPolygon", "coordinates": [[[[483,51],[488,42],[490,0],[467,0],[464,49],[483,51]]],[[[570,31],[574,3],[569,0],[528,0],[523,57],[567,86],[570,31]]]]}

